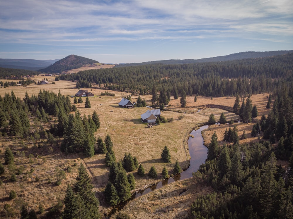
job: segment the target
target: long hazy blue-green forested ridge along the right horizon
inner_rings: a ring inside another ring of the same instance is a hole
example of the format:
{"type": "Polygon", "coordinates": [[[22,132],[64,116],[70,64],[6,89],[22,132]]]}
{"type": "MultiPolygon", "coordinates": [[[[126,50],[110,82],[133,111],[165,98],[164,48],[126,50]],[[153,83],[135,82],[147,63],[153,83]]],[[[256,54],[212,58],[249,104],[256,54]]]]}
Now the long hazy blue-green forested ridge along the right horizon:
{"type": "Polygon", "coordinates": [[[169,59],[169,60],[161,60],[161,61],[150,61],[150,62],[142,62],[142,63],[124,63],[115,65],[116,67],[123,66],[135,66],[135,65],[149,65],[149,64],[189,64],[189,63],[202,63],[202,62],[218,62],[218,61],[232,61],[239,60],[245,58],[262,58],[269,56],[277,56],[284,55],[287,53],[292,53],[293,50],[281,50],[281,51],[268,51],[268,52],[240,52],[234,53],[227,56],[217,56],[212,58],[201,58],[201,59],[169,59]]]}

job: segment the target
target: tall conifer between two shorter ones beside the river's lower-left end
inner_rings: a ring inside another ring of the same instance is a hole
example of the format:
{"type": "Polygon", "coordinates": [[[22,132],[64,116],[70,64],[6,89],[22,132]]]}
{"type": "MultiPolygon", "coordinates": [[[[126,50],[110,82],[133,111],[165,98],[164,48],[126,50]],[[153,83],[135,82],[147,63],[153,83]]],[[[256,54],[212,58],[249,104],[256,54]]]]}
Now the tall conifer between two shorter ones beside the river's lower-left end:
{"type": "Polygon", "coordinates": [[[127,179],[126,171],[120,169],[115,180],[115,188],[121,202],[128,200],[131,197],[130,184],[127,179]]]}

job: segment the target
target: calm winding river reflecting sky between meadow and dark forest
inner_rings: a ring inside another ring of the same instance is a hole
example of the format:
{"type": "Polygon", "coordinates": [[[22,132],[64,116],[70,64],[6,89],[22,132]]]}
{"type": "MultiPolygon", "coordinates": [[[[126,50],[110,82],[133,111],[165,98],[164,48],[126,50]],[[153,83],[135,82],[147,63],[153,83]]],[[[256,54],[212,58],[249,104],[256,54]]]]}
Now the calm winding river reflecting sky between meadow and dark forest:
{"type": "Polygon", "coordinates": [[[208,128],[208,125],[201,126],[197,130],[193,130],[190,134],[194,137],[189,137],[188,139],[188,148],[189,148],[189,154],[190,154],[190,166],[187,170],[183,171],[181,174],[175,175],[172,178],[169,178],[168,180],[163,180],[162,182],[159,182],[156,185],[153,185],[144,191],[141,191],[134,195],[133,198],[137,198],[139,196],[142,196],[144,194],[147,194],[151,191],[154,191],[155,189],[159,189],[163,187],[164,185],[167,185],[171,182],[177,181],[177,180],[184,180],[192,177],[192,173],[196,172],[200,165],[202,163],[205,163],[205,160],[207,159],[207,147],[203,144],[203,138],[201,135],[201,131],[208,128]]]}

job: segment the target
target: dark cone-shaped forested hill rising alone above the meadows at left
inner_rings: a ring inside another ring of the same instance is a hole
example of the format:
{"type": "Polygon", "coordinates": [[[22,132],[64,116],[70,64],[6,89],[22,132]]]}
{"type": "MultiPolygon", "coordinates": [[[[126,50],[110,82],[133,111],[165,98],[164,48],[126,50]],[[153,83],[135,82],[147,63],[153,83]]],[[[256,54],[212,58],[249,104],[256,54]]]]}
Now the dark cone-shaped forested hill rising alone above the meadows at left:
{"type": "Polygon", "coordinates": [[[62,73],[66,70],[71,70],[75,68],[80,68],[83,65],[99,63],[93,59],[85,58],[82,56],[70,55],[65,58],[60,59],[55,62],[53,65],[50,65],[47,68],[40,69],[40,72],[45,73],[62,73]]]}

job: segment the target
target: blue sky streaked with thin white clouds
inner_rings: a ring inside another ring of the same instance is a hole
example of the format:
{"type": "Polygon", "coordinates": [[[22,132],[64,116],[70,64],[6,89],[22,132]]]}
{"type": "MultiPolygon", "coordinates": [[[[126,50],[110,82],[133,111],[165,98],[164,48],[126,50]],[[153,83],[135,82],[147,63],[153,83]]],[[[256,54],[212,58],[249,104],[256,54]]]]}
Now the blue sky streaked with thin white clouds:
{"type": "Polygon", "coordinates": [[[292,0],[0,1],[0,58],[101,63],[293,50],[292,0]]]}

